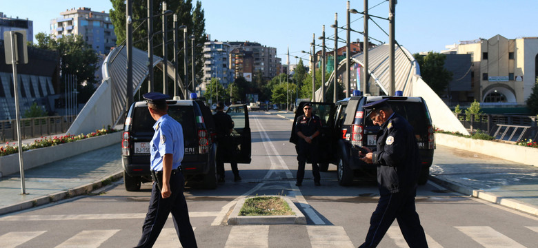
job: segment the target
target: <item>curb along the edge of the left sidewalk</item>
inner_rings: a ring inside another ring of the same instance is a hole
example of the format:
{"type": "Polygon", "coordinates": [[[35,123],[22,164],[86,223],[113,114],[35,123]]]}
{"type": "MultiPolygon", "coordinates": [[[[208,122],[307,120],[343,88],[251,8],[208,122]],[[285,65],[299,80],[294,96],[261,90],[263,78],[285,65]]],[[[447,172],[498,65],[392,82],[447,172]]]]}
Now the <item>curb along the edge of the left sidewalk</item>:
{"type": "Polygon", "coordinates": [[[49,194],[47,196],[40,196],[38,198],[34,198],[32,200],[26,200],[21,203],[15,203],[13,205],[8,205],[6,207],[0,208],[0,215],[3,214],[9,214],[14,211],[21,211],[25,209],[30,209],[32,207],[38,207],[41,205],[46,205],[48,203],[54,203],[59,200],[64,200],[68,198],[73,198],[74,196],[80,196],[83,194],[88,194],[89,192],[94,191],[95,189],[98,189],[100,187],[103,187],[104,185],[108,185],[106,183],[107,180],[118,180],[119,178],[123,177],[123,170],[121,172],[116,172],[115,174],[112,174],[110,176],[106,176],[104,178],[101,178],[100,180],[94,181],[93,183],[88,183],[86,185],[81,185],[79,187],[74,187],[72,189],[63,190],[61,192],[57,192],[54,194],[49,194]]]}

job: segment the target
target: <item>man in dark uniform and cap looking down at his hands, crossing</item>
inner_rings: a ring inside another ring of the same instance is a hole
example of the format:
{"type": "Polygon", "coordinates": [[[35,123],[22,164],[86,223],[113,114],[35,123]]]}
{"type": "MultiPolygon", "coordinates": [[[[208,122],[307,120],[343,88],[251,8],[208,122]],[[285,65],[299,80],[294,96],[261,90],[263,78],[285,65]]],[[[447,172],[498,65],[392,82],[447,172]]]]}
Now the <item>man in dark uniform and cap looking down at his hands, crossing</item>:
{"type": "Polygon", "coordinates": [[[361,158],[377,165],[379,203],[370,218],[370,229],[360,247],[377,247],[394,222],[398,225],[409,247],[428,247],[424,229],[415,209],[417,178],[420,171],[419,148],[413,128],[405,118],[392,111],[388,99],[368,103],[363,107],[370,113],[377,132],[377,149],[368,150],[361,158]]]}

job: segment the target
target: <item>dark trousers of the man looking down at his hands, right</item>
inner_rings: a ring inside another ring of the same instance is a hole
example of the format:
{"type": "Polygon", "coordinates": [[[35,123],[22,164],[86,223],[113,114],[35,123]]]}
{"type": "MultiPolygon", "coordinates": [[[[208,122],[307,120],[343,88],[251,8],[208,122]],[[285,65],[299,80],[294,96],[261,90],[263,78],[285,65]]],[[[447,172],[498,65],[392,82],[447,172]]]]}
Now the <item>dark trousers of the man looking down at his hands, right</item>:
{"type": "Polygon", "coordinates": [[[382,193],[370,218],[366,241],[360,247],[377,247],[395,219],[398,220],[401,234],[409,247],[428,247],[419,214],[415,209],[416,195],[417,187],[403,188],[398,193],[382,193]]]}

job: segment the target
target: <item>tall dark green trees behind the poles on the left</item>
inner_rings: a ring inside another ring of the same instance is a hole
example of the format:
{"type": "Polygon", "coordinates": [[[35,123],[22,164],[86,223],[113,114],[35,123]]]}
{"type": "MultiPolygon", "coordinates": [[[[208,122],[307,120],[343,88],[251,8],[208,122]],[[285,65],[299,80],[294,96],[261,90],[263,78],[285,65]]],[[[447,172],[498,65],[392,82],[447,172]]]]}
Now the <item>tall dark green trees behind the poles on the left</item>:
{"type": "MultiPolygon", "coordinates": [[[[114,33],[117,37],[117,44],[122,44],[126,39],[126,1],[125,0],[110,0],[112,2],[112,10],[110,10],[110,21],[114,25],[114,33]]],[[[195,8],[192,7],[192,0],[179,0],[179,1],[166,1],[167,10],[172,10],[172,12],[177,14],[178,25],[186,25],[188,36],[191,34],[195,37],[195,80],[196,85],[201,83],[203,78],[203,44],[207,41],[206,39],[206,19],[204,17],[203,8],[201,8],[201,1],[197,1],[195,8]]],[[[140,50],[148,50],[148,23],[146,23],[146,18],[148,17],[148,4],[147,0],[133,0],[132,4],[132,19],[144,19],[143,21],[134,21],[132,40],[134,41],[133,46],[139,48],[140,50]],[[139,28],[137,28],[139,27],[139,28]],[[135,30],[136,29],[136,30],[135,30]],[[138,41],[138,42],[137,42],[138,41]]],[[[153,1],[153,14],[161,14],[162,6],[161,1],[153,1]]],[[[167,20],[167,30],[168,39],[172,41],[172,30],[173,30],[173,19],[172,16],[166,17],[167,20]]],[[[159,32],[162,30],[162,17],[153,18],[153,30],[154,32],[159,32]]],[[[183,40],[183,33],[179,35],[181,40],[183,40]]],[[[154,54],[156,56],[163,56],[163,35],[154,34],[153,35],[153,45],[154,45],[154,54]]],[[[171,61],[174,57],[174,44],[168,42],[168,54],[167,58],[171,61]]],[[[192,41],[188,39],[188,72],[192,73],[192,59],[190,55],[192,46],[192,41]]],[[[179,49],[183,49],[183,42],[178,44],[179,49]]],[[[178,61],[183,61],[183,52],[179,52],[178,61]]],[[[178,63],[179,72],[183,72],[183,63],[178,63]]],[[[162,73],[156,72],[154,74],[155,82],[162,82],[162,73]]],[[[189,78],[191,78],[189,76],[189,78]]],[[[181,76],[183,79],[183,76],[181,76]]],[[[169,79],[170,80],[170,79],[169,79]]],[[[184,82],[184,85],[188,85],[188,82],[184,82]]],[[[168,83],[168,92],[173,92],[173,83],[168,83]]],[[[192,85],[189,87],[192,89],[192,85]]],[[[147,86],[146,86],[147,89],[147,86]]],[[[155,91],[162,91],[162,83],[155,83],[155,91]]]]}

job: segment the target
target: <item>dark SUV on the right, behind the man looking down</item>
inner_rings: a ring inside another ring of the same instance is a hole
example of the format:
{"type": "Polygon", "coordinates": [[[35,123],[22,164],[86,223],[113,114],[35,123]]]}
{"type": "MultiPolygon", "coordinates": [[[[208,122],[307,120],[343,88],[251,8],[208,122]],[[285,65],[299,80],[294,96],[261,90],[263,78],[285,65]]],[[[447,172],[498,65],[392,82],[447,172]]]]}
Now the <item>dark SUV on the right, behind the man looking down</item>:
{"type": "MultiPolygon", "coordinates": [[[[435,138],[430,112],[421,97],[352,96],[336,104],[312,103],[313,114],[321,118],[322,124],[320,170],[326,172],[330,163],[337,165],[340,185],[350,185],[354,176],[375,178],[377,167],[359,159],[359,147],[375,148],[380,127],[373,125],[370,118],[365,118],[366,112],[362,106],[381,99],[389,99],[392,110],[406,118],[415,130],[422,166],[418,183],[424,185],[433,161],[435,138]]],[[[295,120],[303,114],[304,104],[299,104],[295,120]]],[[[298,138],[294,125],[290,142],[297,143],[298,138]]]]}

